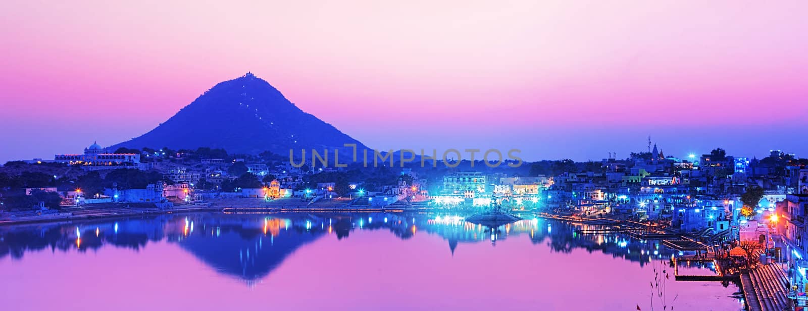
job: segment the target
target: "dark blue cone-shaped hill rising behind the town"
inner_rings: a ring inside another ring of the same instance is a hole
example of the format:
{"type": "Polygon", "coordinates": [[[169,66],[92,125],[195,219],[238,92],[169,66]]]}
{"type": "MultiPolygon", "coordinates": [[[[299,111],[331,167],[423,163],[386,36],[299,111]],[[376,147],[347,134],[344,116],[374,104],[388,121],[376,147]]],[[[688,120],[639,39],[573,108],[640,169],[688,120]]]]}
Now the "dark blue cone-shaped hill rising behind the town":
{"type": "MultiPolygon", "coordinates": [[[[342,148],[360,141],[305,113],[254,74],[221,82],[157,128],[109,147],[222,148],[229,153],[342,148]]],[[[297,154],[297,153],[296,153],[297,154]]]]}

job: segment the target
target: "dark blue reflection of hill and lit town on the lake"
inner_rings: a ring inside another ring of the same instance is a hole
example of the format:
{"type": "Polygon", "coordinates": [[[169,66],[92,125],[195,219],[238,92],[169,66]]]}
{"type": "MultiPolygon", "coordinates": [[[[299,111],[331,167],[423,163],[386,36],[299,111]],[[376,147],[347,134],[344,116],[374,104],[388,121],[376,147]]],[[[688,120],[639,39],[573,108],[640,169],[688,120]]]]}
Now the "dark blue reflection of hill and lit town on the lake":
{"type": "Polygon", "coordinates": [[[406,213],[174,214],[0,227],[0,258],[19,259],[27,251],[46,249],[83,253],[106,245],[140,250],[149,242],[165,240],[222,274],[253,282],[269,275],[301,246],[330,235],[345,239],[356,230],[389,230],[402,240],[415,234],[436,235],[447,241],[452,255],[466,243],[495,246],[512,238],[545,243],[553,252],[602,252],[640,266],[676,255],[659,242],[639,241],[617,233],[579,233],[595,227],[534,218],[487,228],[464,221],[461,216],[406,213]]]}

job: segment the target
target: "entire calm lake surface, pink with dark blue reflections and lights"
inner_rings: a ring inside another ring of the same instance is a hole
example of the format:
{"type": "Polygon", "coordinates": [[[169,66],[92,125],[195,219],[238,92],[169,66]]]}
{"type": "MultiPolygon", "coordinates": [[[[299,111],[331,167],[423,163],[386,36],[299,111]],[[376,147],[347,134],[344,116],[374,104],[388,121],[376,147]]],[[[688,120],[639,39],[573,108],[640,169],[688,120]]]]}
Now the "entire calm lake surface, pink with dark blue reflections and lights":
{"type": "Polygon", "coordinates": [[[735,284],[675,281],[672,250],[576,229],[402,213],[0,226],[0,309],[743,309],[735,284]]]}

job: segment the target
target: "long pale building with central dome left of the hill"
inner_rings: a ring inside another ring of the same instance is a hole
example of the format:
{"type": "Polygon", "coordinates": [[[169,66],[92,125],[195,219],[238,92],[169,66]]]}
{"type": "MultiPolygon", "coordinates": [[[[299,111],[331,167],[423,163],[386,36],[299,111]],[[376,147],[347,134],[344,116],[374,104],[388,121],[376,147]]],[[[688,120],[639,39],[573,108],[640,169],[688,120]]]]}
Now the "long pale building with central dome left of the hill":
{"type": "Polygon", "coordinates": [[[84,149],[84,154],[57,154],[55,162],[82,165],[86,170],[114,168],[137,168],[141,163],[139,153],[107,153],[97,142],[84,149]],[[111,167],[112,166],[112,167],[111,167]]]}

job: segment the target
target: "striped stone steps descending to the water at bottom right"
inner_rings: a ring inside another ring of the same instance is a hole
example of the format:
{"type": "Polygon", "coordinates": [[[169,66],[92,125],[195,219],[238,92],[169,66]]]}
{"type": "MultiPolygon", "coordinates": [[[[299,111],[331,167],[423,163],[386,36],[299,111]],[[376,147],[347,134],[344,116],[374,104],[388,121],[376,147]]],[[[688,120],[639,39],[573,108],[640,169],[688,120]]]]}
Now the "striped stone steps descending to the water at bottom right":
{"type": "Polygon", "coordinates": [[[743,296],[750,310],[781,311],[791,309],[789,279],[776,264],[766,264],[741,275],[743,296]]]}

